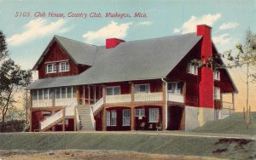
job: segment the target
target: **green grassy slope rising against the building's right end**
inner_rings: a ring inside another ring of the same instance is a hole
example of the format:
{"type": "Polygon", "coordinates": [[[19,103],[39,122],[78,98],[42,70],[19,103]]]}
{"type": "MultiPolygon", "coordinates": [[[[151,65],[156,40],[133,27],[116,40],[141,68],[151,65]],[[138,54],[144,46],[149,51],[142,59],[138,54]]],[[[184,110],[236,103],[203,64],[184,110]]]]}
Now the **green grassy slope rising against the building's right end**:
{"type": "Polygon", "coordinates": [[[252,123],[247,129],[243,113],[234,113],[222,120],[208,122],[193,132],[197,133],[219,133],[219,134],[256,134],[256,112],[251,114],[252,123]]]}

